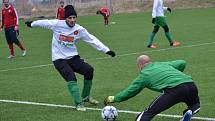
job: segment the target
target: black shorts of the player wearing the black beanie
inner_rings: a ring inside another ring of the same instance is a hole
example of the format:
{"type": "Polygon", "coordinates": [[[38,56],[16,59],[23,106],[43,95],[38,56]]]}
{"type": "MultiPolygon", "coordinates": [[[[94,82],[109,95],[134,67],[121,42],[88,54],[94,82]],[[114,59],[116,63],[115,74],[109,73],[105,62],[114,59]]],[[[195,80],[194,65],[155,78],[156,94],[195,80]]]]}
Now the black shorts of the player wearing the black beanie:
{"type": "Polygon", "coordinates": [[[84,76],[85,80],[93,79],[93,67],[84,62],[79,55],[71,59],[58,59],[53,61],[55,68],[61,76],[68,81],[77,81],[75,72],[84,76]]]}

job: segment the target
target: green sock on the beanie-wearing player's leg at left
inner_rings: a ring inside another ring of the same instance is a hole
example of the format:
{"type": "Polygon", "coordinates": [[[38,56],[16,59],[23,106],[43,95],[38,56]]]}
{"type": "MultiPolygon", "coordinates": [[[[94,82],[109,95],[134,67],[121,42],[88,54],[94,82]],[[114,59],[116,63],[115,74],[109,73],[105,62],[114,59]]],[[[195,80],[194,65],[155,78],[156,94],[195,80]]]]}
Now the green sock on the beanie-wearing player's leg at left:
{"type": "Polygon", "coordinates": [[[82,103],[79,88],[76,81],[69,81],[67,83],[68,89],[72,97],[74,98],[75,104],[78,105],[82,103]]]}

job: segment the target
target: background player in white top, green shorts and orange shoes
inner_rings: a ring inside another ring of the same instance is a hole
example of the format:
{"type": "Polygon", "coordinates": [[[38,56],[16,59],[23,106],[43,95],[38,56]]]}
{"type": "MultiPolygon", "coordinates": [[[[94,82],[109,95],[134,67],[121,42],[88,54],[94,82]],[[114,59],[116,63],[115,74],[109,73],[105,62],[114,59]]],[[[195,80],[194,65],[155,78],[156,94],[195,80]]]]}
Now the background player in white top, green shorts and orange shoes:
{"type": "Polygon", "coordinates": [[[147,43],[148,48],[157,48],[156,45],[153,45],[152,43],[160,26],[164,29],[165,36],[168,39],[170,46],[175,47],[180,45],[180,42],[173,40],[172,35],[169,32],[169,27],[166,23],[165,16],[164,16],[164,10],[168,10],[171,13],[170,8],[164,7],[163,0],[154,0],[153,10],[152,10],[152,23],[154,24],[154,30],[152,31],[148,39],[148,43],[147,43]]]}

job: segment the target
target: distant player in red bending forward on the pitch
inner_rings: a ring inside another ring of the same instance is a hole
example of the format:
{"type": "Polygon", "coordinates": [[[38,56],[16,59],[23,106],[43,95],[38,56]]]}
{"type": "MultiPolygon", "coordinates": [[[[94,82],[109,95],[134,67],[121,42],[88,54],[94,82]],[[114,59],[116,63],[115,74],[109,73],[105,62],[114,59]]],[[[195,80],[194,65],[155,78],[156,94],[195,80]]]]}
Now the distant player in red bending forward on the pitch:
{"type": "Polygon", "coordinates": [[[101,8],[96,12],[96,14],[101,14],[104,17],[104,25],[109,24],[110,11],[108,8],[101,8]]]}

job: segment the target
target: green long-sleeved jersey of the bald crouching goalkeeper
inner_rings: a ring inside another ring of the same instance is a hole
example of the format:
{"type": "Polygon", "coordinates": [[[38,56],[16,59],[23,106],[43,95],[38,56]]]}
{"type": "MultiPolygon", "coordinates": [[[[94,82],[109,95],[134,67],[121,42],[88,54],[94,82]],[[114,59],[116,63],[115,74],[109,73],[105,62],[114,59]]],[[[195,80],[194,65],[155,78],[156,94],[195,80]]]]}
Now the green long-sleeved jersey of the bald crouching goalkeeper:
{"type": "Polygon", "coordinates": [[[145,65],[138,77],[126,89],[119,92],[114,101],[125,101],[137,95],[144,88],[162,92],[166,88],[192,82],[192,77],[183,73],[185,65],[184,60],[153,62],[145,65]]]}

